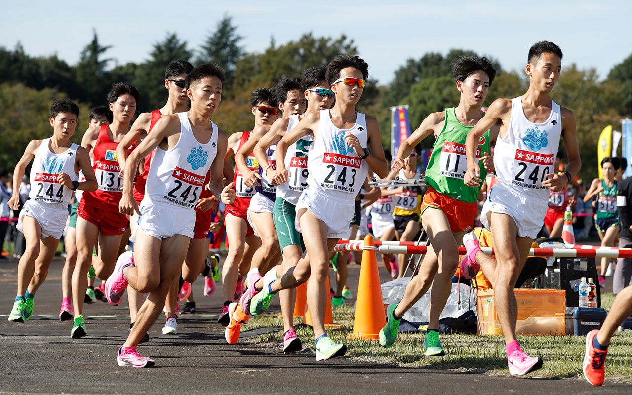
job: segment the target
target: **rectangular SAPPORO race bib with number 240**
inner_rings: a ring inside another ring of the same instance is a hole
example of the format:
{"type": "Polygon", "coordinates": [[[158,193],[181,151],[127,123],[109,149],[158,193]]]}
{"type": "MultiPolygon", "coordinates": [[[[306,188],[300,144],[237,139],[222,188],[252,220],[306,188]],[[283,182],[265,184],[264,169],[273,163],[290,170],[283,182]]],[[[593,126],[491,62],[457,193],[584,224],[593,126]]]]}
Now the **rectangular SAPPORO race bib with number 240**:
{"type": "Polygon", "coordinates": [[[547,189],[542,185],[542,181],[554,170],[554,166],[555,155],[553,154],[538,154],[516,149],[516,157],[511,168],[511,183],[523,188],[547,189]]]}

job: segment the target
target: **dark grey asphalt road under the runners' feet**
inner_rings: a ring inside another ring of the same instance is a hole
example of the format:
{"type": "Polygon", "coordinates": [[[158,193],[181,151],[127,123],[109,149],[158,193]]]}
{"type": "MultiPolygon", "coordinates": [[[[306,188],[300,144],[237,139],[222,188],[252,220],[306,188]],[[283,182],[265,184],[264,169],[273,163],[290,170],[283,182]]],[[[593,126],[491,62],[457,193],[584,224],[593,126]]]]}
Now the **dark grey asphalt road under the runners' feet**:
{"type": "MultiPolygon", "coordinates": [[[[506,394],[512,393],[631,393],[632,386],[611,384],[596,389],[580,379],[518,379],[463,370],[425,370],[380,365],[360,358],[316,362],[312,353],[285,356],[260,344],[230,346],[214,317],[221,290],[202,296],[195,284],[197,313],[179,319],[179,334],[163,336],[162,320],[152,327],[152,339],[141,346],[156,358],[150,369],[121,368],[116,351],[128,333],[126,303],[86,308],[88,335],[70,339],[71,322],[59,322],[61,267],[53,262],[49,281],[35,297],[34,317],[27,324],[8,322],[15,297],[17,262],[0,262],[0,393],[202,394],[506,394]],[[91,318],[92,317],[92,318],[91,318]]],[[[356,295],[359,266],[349,269],[349,286],[356,295]]],[[[244,332],[242,337],[258,332],[244,332]]],[[[304,339],[307,341],[308,339],[304,339]]]]}

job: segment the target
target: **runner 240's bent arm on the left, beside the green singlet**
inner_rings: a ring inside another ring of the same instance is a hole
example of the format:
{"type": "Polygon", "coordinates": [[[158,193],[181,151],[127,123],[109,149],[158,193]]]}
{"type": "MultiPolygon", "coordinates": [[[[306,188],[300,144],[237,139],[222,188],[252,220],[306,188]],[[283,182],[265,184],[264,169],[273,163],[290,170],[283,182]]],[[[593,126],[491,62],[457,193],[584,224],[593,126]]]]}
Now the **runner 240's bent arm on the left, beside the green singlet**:
{"type": "Polygon", "coordinates": [[[487,109],[485,116],[483,116],[476,126],[470,130],[470,133],[468,133],[468,137],[465,140],[465,155],[468,161],[468,169],[463,179],[465,185],[480,186],[482,181],[478,178],[480,177],[480,167],[478,167],[476,162],[478,140],[480,140],[480,137],[485,134],[485,131],[501,122],[502,118],[505,114],[509,113],[509,111],[511,111],[511,100],[494,100],[491,106],[489,106],[489,109],[487,109]]]}

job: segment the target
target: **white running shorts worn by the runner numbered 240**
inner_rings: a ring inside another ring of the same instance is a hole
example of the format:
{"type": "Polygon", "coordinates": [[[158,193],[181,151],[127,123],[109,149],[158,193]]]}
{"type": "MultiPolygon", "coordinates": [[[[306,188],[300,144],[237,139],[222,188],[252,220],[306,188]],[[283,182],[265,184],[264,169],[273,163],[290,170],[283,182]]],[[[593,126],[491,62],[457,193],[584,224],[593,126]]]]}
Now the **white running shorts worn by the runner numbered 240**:
{"type": "Polygon", "coordinates": [[[535,239],[542,229],[548,207],[547,201],[534,201],[532,197],[520,195],[501,183],[496,183],[483,204],[480,221],[485,228],[491,230],[489,218],[492,212],[507,214],[516,222],[518,236],[535,239]]]}

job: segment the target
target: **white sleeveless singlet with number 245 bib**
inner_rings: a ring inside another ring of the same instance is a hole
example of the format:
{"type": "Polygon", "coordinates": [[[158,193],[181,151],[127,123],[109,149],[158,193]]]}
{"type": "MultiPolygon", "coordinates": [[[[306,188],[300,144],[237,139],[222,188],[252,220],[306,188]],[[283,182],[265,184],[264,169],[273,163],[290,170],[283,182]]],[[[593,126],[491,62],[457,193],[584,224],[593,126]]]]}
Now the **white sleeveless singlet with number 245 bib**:
{"type": "MultiPolygon", "coordinates": [[[[145,198],[152,203],[193,209],[197,204],[204,179],[217,155],[217,125],[211,122],[213,132],[209,142],[200,143],[193,135],[186,112],[178,112],[180,137],[175,147],[163,150],[156,147],[149,166],[145,198]]],[[[142,203],[141,203],[142,205],[142,203]]]]}

